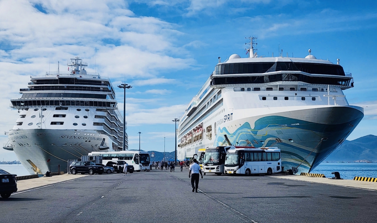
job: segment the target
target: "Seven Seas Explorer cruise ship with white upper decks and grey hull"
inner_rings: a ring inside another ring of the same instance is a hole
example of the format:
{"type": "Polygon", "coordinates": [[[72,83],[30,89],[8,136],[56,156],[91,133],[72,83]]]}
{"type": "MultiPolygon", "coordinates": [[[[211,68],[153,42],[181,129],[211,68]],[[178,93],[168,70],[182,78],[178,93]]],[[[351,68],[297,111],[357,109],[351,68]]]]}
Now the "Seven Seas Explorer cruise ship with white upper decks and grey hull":
{"type": "MultiPolygon", "coordinates": [[[[67,171],[67,160],[94,151],[123,150],[123,116],[108,77],[87,72],[79,57],[68,71],[30,76],[11,107],[18,119],[4,149],[12,150],[31,174],[67,171]]],[[[125,133],[124,148],[128,149],[125,133]]]]}

